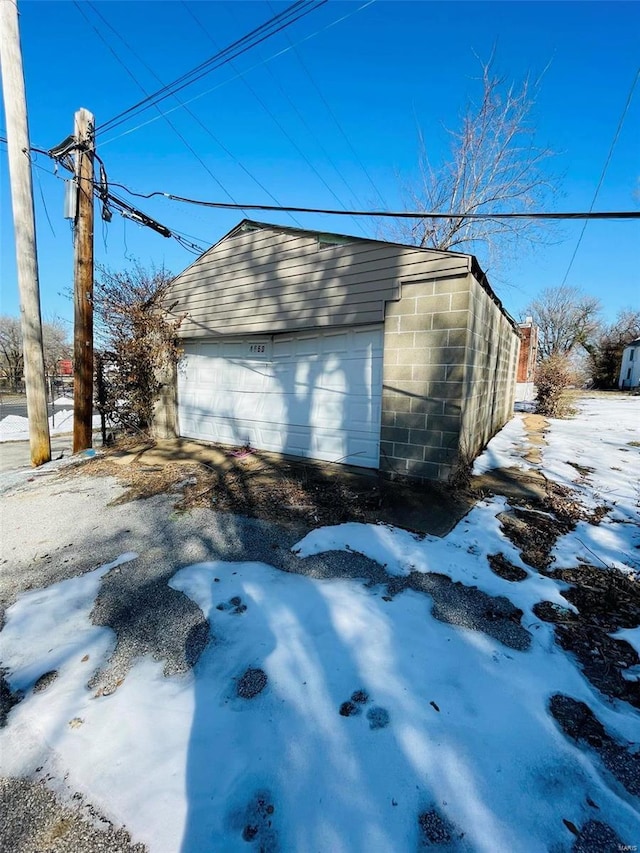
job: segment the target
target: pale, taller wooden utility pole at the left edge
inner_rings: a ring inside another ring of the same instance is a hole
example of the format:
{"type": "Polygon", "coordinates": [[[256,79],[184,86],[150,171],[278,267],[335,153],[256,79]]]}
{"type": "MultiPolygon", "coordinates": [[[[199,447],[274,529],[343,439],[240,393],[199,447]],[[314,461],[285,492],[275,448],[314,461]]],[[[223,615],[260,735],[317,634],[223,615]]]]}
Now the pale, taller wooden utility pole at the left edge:
{"type": "Polygon", "coordinates": [[[29,126],[18,31],[18,8],[15,0],[0,0],[0,65],[7,124],[31,464],[43,465],[51,459],[51,439],[42,346],[29,126]]]}

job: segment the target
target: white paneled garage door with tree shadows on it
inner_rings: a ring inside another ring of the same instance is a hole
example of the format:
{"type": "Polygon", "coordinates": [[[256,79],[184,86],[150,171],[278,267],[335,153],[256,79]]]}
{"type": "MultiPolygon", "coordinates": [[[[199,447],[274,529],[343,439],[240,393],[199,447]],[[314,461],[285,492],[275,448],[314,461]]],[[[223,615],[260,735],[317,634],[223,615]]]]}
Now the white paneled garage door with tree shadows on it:
{"type": "Polygon", "coordinates": [[[382,327],[188,343],[180,435],[377,468],[382,327]]]}

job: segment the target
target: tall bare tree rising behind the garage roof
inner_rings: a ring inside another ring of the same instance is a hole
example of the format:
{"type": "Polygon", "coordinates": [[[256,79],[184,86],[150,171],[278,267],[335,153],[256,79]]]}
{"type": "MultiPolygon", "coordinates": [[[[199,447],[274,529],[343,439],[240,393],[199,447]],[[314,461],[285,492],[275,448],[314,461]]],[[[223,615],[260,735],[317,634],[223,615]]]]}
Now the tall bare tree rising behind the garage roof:
{"type": "MultiPolygon", "coordinates": [[[[460,130],[448,130],[451,155],[433,166],[420,132],[420,180],[405,187],[405,207],[462,214],[527,213],[544,206],[555,189],[548,172],[551,149],[535,144],[531,113],[540,80],[508,85],[481,63],[482,94],[470,102],[460,130]]],[[[433,249],[483,254],[491,263],[523,239],[544,239],[544,226],[528,219],[402,220],[393,237],[433,249]]]]}

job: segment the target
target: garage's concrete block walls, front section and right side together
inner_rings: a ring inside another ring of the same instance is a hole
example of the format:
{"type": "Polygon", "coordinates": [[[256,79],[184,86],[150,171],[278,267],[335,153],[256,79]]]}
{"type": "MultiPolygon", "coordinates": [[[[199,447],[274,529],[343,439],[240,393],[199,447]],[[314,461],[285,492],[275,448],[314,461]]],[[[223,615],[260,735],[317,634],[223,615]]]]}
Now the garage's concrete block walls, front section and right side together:
{"type": "Polygon", "coordinates": [[[384,326],[380,470],[446,480],[511,417],[519,339],[471,273],[403,283],[384,326]]]}

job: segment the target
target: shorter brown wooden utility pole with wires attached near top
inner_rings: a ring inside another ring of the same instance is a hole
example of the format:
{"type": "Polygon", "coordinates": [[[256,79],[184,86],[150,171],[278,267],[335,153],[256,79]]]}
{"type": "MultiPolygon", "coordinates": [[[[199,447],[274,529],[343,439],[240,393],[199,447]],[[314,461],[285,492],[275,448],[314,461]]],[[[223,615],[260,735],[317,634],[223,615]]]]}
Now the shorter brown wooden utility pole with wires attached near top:
{"type": "MultiPolygon", "coordinates": [[[[4,0],[0,0],[4,2],[4,0]]],[[[73,452],[91,447],[93,433],[93,155],[95,120],[75,115],[78,205],[74,256],[73,452]]]]}

